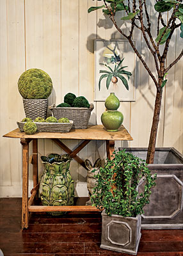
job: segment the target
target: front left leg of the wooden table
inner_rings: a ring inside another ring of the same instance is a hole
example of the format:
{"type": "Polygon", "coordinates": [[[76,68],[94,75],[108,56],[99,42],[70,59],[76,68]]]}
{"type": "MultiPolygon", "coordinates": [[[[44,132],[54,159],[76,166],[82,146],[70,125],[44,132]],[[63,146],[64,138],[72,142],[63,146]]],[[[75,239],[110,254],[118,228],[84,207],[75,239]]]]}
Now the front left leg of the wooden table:
{"type": "Polygon", "coordinates": [[[22,144],[22,228],[28,228],[28,187],[29,187],[29,142],[20,139],[22,144]]]}

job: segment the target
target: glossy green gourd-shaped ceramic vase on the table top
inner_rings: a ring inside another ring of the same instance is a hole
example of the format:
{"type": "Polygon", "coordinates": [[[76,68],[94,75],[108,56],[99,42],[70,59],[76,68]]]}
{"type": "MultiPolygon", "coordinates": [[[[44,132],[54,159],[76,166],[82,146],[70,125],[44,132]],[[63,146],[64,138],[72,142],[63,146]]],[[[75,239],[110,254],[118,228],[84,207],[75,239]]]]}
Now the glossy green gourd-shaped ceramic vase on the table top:
{"type": "Polygon", "coordinates": [[[105,101],[107,111],[102,113],[101,121],[104,127],[109,132],[116,132],[122,125],[123,114],[117,109],[120,106],[120,100],[116,97],[115,93],[111,92],[105,101]]]}

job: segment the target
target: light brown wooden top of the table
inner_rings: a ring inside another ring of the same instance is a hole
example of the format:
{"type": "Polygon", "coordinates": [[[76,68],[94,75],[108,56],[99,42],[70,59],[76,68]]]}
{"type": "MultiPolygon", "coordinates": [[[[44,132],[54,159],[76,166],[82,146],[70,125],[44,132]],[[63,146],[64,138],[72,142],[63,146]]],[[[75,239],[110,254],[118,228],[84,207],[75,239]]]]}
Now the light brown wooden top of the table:
{"type": "Polygon", "coordinates": [[[71,129],[70,132],[36,132],[28,135],[19,128],[4,134],[3,137],[20,139],[74,139],[74,140],[133,140],[131,134],[123,127],[117,132],[107,132],[103,125],[88,125],[87,129],[71,129]]]}

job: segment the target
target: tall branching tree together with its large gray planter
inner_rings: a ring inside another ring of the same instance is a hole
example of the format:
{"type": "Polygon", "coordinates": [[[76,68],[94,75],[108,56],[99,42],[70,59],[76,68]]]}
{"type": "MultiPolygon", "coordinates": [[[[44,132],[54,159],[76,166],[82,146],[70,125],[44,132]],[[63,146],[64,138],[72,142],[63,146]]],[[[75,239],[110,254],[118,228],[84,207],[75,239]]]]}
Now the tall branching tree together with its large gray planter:
{"type": "Polygon", "coordinates": [[[150,15],[150,8],[148,8],[150,2],[147,0],[102,0],[98,3],[103,4],[89,8],[88,13],[101,9],[104,15],[111,19],[116,30],[131,45],[155,85],[154,115],[148,148],[128,149],[133,154],[146,159],[146,162],[150,164],[148,168],[157,173],[157,186],[152,193],[151,203],[145,207],[143,227],[183,228],[183,156],[175,148],[155,148],[163,90],[168,83],[166,77],[170,68],[175,67],[183,55],[182,50],[177,53],[171,63],[167,61],[173,35],[177,33],[180,38],[183,38],[182,0],[157,0],[153,3],[151,1],[155,10],[154,15],[150,15]],[[123,11],[121,17],[116,15],[120,11],[123,11]],[[128,29],[120,28],[116,17],[120,17],[128,29]],[[152,61],[148,65],[132,41],[132,36],[137,31],[141,33],[144,41],[143,49],[152,56],[154,65],[152,61]],[[164,188],[168,189],[169,194],[164,193],[164,188]]]}

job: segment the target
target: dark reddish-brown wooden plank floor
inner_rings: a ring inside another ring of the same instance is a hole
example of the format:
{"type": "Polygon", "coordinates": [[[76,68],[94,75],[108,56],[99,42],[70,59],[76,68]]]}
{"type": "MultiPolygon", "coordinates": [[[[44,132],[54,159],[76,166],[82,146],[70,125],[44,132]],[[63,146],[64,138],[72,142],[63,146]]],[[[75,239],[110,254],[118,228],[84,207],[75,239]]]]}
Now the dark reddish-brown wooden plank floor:
{"type": "MultiPolygon", "coordinates": [[[[20,216],[20,198],[0,199],[0,248],[4,256],[127,256],[100,249],[100,213],[62,217],[33,213],[29,228],[22,232],[20,216]]],[[[138,255],[183,255],[183,230],[142,230],[138,255]]]]}

